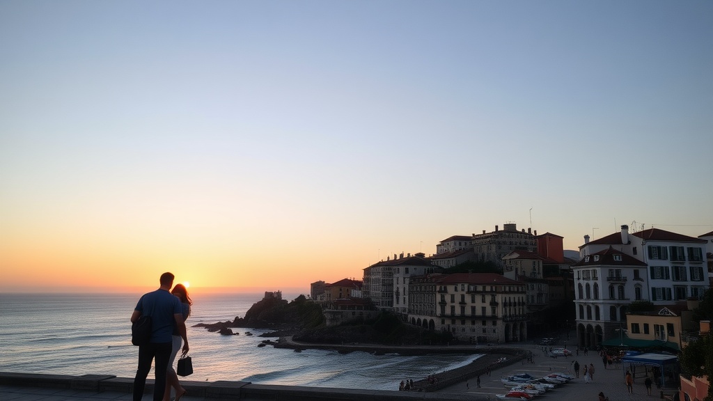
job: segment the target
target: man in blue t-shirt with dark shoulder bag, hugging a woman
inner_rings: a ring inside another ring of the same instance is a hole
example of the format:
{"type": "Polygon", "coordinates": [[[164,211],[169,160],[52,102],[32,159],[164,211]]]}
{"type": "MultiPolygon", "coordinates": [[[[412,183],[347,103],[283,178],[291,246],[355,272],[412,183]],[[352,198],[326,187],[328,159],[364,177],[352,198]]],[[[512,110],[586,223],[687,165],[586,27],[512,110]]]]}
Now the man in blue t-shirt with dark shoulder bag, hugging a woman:
{"type": "Polygon", "coordinates": [[[138,347],[138,367],[133,382],[133,401],[141,401],[143,397],[146,377],[151,370],[153,360],[155,360],[153,401],[163,400],[168,359],[173,348],[171,333],[173,333],[174,326],[178,328],[178,333],[183,338],[183,355],[187,354],[189,350],[185,321],[183,320],[183,306],[178,297],[169,293],[174,277],[172,273],[163,273],[159,279],[158,290],[142,295],[131,314],[131,323],[143,315],[151,317],[150,342],[138,347]]]}

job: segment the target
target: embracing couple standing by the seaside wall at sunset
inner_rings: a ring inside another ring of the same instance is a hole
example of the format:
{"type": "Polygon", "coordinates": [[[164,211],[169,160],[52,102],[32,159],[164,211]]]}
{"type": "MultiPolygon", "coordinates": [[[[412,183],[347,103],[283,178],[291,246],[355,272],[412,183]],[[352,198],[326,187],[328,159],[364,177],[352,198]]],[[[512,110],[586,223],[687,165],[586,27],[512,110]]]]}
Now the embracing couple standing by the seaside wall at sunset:
{"type": "Polygon", "coordinates": [[[171,389],[175,389],[175,401],[186,394],[180,385],[173,362],[179,350],[182,357],[188,354],[188,335],[185,320],[190,315],[193,301],[183,284],[173,286],[173,273],[163,273],[158,290],[145,293],[136,304],[131,323],[141,316],[151,317],[151,340],[138,348],[138,368],[134,377],[133,401],[141,401],[146,386],[146,377],[155,360],[155,386],[153,401],[169,401],[171,389]],[[171,289],[173,287],[173,289],[171,289]],[[183,344],[183,347],[181,345],[183,344]]]}

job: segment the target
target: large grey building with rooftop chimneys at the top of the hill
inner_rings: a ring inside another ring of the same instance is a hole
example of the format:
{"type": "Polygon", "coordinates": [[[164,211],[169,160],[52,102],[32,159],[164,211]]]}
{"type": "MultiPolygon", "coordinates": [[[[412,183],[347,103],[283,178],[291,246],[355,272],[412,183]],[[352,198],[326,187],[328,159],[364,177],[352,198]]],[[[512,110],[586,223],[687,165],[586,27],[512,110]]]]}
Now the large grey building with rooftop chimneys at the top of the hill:
{"type": "Polygon", "coordinates": [[[530,233],[529,228],[526,233],[525,230],[518,231],[515,223],[506,223],[503,225],[503,230],[498,230],[496,225],[495,231],[491,233],[483,230],[482,234],[473,234],[473,252],[476,254],[476,260],[492,262],[502,267],[503,256],[513,250],[535,252],[537,249],[535,235],[530,233]]]}

